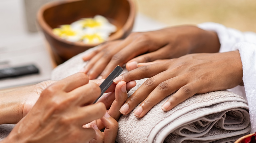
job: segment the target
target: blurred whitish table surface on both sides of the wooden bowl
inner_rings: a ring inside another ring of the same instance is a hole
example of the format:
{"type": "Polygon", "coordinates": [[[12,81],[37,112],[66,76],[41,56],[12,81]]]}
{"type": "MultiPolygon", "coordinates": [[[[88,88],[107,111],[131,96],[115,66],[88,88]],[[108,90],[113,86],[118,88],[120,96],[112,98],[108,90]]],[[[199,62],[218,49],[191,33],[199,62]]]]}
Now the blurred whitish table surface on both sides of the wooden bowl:
{"type": "MultiPolygon", "coordinates": [[[[43,34],[27,31],[24,13],[23,0],[0,1],[0,69],[34,64],[40,72],[0,79],[0,93],[50,80],[54,68],[43,34]]],[[[139,13],[135,19],[133,32],[157,30],[165,26],[139,13]]]]}

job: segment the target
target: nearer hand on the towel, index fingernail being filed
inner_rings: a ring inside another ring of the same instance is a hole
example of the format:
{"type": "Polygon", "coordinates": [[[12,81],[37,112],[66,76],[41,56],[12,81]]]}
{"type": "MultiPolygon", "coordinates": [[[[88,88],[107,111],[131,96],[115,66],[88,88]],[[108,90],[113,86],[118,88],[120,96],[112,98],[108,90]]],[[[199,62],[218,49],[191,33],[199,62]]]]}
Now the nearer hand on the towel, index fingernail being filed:
{"type": "Polygon", "coordinates": [[[214,54],[190,54],[177,59],[139,67],[116,79],[120,81],[147,79],[125,102],[120,112],[134,111],[143,117],[154,105],[177,91],[162,105],[168,111],[196,93],[224,90],[243,83],[239,51],[214,54]]]}

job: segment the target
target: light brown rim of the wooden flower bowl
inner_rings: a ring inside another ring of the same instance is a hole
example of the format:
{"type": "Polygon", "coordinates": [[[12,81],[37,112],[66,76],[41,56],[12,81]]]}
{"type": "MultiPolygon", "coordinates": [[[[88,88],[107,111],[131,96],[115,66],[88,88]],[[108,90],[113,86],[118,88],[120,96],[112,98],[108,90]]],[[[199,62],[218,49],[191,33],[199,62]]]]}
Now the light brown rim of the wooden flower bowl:
{"type": "MultiPolygon", "coordinates": [[[[83,42],[71,42],[68,40],[64,40],[60,37],[58,37],[57,35],[53,34],[52,32],[52,28],[45,22],[44,18],[43,18],[43,12],[53,6],[57,6],[60,4],[65,4],[65,3],[70,3],[70,2],[76,2],[76,1],[84,1],[84,0],[63,0],[63,1],[53,1],[53,2],[49,2],[46,3],[45,5],[41,6],[41,8],[39,8],[38,12],[37,12],[37,23],[42,27],[42,29],[44,29],[44,31],[49,34],[51,37],[53,37],[54,39],[60,41],[60,42],[64,42],[66,44],[69,45],[75,45],[75,46],[87,46],[87,47],[95,47],[101,43],[96,43],[96,44],[86,44],[83,42]]],[[[111,35],[109,37],[109,39],[107,41],[112,41],[112,40],[117,40],[117,39],[121,39],[124,34],[125,31],[127,31],[129,29],[129,27],[134,24],[135,21],[135,14],[136,14],[136,9],[135,9],[135,3],[133,0],[126,0],[129,5],[130,5],[130,13],[129,16],[127,18],[126,23],[123,25],[123,27],[121,29],[119,29],[117,32],[115,32],[113,35],[111,35]]]]}

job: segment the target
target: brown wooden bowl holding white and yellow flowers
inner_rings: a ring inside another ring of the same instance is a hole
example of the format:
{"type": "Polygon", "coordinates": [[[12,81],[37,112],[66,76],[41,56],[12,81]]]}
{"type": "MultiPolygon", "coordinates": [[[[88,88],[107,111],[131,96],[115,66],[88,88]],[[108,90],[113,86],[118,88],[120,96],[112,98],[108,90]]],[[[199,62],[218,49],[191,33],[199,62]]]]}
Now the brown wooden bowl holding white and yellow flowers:
{"type": "Polygon", "coordinates": [[[117,40],[131,33],[135,14],[133,0],[65,0],[42,6],[37,13],[37,22],[52,49],[56,63],[61,64],[98,44],[61,39],[53,34],[53,28],[62,24],[71,24],[81,18],[102,15],[116,25],[117,31],[110,35],[109,40],[117,40]]]}

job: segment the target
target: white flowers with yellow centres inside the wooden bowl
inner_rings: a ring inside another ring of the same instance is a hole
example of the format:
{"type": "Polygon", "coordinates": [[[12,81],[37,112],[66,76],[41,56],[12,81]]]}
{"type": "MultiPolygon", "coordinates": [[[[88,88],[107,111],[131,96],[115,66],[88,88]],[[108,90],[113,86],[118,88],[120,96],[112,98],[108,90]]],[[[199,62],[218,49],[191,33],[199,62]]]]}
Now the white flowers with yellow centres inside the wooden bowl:
{"type": "Polygon", "coordinates": [[[116,30],[116,26],[109,23],[105,17],[96,15],[94,18],[83,18],[70,25],[61,25],[60,28],[54,28],[53,33],[68,41],[93,44],[106,41],[116,30]]]}

